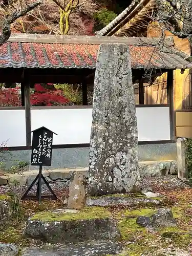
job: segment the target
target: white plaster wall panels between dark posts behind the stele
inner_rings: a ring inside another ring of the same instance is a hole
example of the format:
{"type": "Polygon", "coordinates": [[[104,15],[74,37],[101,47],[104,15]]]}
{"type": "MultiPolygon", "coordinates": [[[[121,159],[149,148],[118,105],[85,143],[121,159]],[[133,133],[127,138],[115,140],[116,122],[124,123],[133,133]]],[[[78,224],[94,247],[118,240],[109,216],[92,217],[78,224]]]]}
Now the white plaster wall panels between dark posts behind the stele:
{"type": "MultiPolygon", "coordinates": [[[[137,108],[139,141],[170,140],[169,108],[137,108]]],[[[25,110],[0,110],[0,143],[7,146],[25,146],[25,110]]],[[[58,136],[53,144],[89,143],[92,109],[32,109],[31,128],[45,126],[58,136]]]]}

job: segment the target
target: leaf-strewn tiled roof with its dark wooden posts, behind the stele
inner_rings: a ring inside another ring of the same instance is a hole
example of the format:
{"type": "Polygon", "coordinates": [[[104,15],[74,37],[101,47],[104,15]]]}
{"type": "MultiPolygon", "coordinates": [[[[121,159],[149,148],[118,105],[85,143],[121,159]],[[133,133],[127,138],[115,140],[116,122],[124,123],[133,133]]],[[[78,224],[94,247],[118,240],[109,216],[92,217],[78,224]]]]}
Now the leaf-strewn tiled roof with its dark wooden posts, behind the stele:
{"type": "Polygon", "coordinates": [[[25,108],[26,112],[27,146],[31,145],[31,84],[81,83],[83,105],[87,105],[87,83],[94,81],[99,45],[106,43],[129,45],[133,83],[139,84],[140,104],[144,104],[144,83],[148,83],[149,79],[155,81],[158,76],[167,74],[164,97],[169,107],[170,140],[174,140],[173,76],[175,70],[180,73],[181,70],[191,68],[192,63],[187,61],[188,55],[174,48],[171,39],[164,40],[161,48],[158,47],[158,40],[116,36],[12,35],[0,47],[0,82],[21,83],[21,108],[25,108]]]}

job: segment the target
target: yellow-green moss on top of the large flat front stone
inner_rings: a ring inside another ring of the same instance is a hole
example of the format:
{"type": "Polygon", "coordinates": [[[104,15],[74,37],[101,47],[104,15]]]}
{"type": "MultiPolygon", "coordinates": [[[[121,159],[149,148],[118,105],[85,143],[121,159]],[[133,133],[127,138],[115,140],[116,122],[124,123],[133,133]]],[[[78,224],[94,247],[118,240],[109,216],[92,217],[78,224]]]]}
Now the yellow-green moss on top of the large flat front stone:
{"type": "Polygon", "coordinates": [[[70,221],[70,220],[92,220],[92,219],[104,219],[111,217],[108,210],[103,207],[84,207],[76,214],[74,213],[60,213],[57,214],[52,211],[44,211],[35,214],[30,218],[31,221],[40,220],[45,222],[52,221],[70,221]]]}

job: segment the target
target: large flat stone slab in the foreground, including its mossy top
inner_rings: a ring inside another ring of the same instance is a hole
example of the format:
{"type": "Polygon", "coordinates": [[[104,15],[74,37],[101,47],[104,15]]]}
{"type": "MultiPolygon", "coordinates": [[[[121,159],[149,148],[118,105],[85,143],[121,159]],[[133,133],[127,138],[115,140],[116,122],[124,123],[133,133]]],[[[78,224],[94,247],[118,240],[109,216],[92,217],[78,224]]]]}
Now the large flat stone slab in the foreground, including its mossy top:
{"type": "Polygon", "coordinates": [[[93,240],[115,241],[120,238],[120,232],[108,210],[86,207],[77,212],[39,212],[28,219],[24,236],[66,244],[93,240]]]}

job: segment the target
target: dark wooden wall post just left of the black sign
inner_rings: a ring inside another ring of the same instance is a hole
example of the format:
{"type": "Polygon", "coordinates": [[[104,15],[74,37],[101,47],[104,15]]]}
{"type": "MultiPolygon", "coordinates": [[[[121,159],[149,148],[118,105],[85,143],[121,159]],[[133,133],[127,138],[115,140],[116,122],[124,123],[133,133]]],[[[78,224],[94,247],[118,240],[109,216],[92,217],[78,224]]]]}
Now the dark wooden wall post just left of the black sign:
{"type": "Polygon", "coordinates": [[[30,103],[30,83],[21,84],[25,98],[25,118],[26,118],[26,146],[31,146],[31,103],[30,103]]]}

